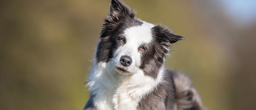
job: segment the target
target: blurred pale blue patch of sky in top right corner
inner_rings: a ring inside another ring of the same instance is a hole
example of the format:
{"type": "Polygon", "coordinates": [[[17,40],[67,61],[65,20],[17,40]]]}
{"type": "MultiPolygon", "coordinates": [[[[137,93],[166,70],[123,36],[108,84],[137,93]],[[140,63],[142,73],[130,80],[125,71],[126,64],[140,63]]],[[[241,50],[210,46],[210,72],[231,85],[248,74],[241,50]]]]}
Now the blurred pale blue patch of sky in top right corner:
{"type": "Polygon", "coordinates": [[[256,0],[219,0],[224,11],[234,21],[241,25],[256,22],[256,0]]]}

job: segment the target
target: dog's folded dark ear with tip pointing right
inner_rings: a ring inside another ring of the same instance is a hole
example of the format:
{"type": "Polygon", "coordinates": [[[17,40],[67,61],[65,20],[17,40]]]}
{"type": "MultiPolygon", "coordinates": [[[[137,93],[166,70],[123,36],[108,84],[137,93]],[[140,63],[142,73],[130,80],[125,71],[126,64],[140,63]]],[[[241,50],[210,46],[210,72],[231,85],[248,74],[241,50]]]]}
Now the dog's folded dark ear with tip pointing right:
{"type": "Polygon", "coordinates": [[[185,39],[182,36],[173,34],[168,27],[161,25],[153,27],[152,34],[155,37],[157,43],[161,45],[165,54],[169,53],[172,43],[185,39]]]}

